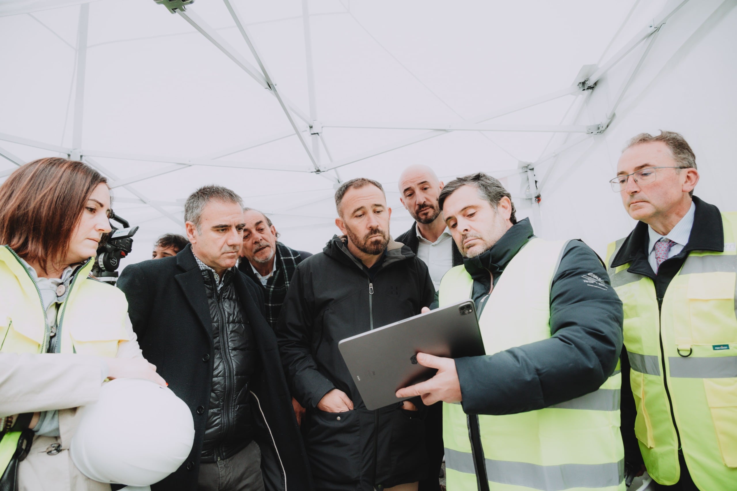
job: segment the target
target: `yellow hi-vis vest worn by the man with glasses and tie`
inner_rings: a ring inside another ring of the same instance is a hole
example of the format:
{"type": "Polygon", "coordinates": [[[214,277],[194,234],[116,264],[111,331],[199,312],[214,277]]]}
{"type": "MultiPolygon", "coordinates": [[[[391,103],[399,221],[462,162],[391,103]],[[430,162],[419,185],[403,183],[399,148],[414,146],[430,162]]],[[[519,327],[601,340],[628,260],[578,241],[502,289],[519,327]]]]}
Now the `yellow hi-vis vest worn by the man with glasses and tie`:
{"type": "MultiPolygon", "coordinates": [[[[635,435],[648,473],[660,484],[679,480],[680,436],[691,478],[708,491],[737,490],[737,214],[723,213],[722,223],[724,252],[689,253],[660,315],[652,279],[629,264],[609,268],[624,303],[635,435]]],[[[609,244],[607,265],[622,243],[609,244]]]]}

